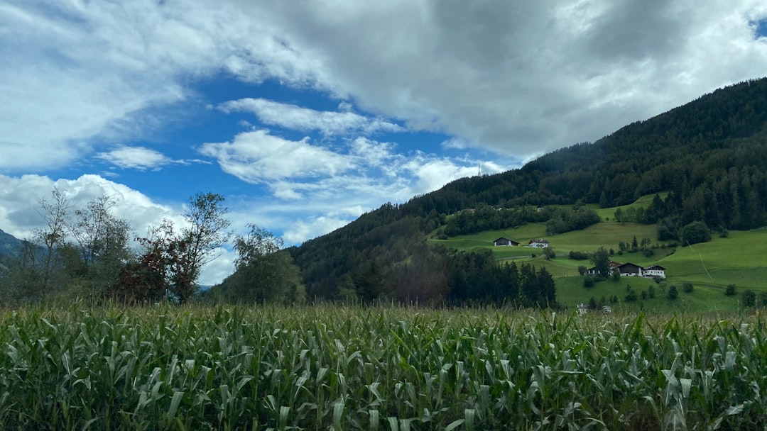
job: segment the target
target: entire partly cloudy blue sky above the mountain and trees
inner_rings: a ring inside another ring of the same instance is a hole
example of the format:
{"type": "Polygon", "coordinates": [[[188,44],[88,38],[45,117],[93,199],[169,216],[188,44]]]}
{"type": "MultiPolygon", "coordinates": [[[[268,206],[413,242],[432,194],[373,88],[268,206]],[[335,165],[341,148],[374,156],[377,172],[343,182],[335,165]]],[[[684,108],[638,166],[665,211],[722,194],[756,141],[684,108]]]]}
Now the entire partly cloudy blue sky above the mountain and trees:
{"type": "Polygon", "coordinates": [[[4,0],[0,58],[0,229],[54,187],[137,233],[211,192],[298,245],[765,77],[767,4],[4,0]]]}

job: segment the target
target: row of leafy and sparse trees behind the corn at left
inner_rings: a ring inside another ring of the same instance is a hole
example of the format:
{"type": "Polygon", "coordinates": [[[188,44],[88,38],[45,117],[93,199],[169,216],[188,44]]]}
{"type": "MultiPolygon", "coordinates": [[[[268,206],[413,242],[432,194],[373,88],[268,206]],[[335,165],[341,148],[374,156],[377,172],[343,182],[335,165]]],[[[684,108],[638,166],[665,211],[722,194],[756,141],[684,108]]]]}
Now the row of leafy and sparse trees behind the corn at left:
{"type": "Polygon", "coordinates": [[[181,227],[165,219],[144,235],[114,214],[114,197],[102,195],[83,207],[75,207],[58,188],[51,197],[38,201],[43,227],[3,261],[5,304],[76,298],[128,304],[304,299],[298,267],[274,235],[255,225],[244,237],[234,237],[236,266],[247,276],[229,277],[206,295],[196,295],[202,266],[232,238],[220,194],[193,195],[181,227]]]}

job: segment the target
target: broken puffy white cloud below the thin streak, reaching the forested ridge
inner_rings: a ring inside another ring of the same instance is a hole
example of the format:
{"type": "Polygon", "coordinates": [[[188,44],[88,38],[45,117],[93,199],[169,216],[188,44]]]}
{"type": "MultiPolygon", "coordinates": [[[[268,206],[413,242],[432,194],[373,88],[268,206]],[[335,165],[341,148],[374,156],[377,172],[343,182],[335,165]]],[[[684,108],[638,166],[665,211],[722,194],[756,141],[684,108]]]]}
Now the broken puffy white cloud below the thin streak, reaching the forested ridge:
{"type": "MultiPolygon", "coordinates": [[[[264,131],[260,132],[255,141],[250,136],[242,137],[243,133],[236,136],[234,142],[252,144],[268,137],[264,131]]],[[[308,145],[304,141],[298,143],[308,145]]],[[[219,164],[225,171],[243,181],[266,184],[272,191],[272,197],[251,198],[237,204],[237,215],[232,214],[236,219],[233,219],[233,225],[244,226],[255,220],[259,226],[280,233],[288,244],[328,233],[363,212],[380,207],[383,202],[401,203],[457,178],[477,174],[476,160],[443,158],[422,152],[397,154],[396,145],[367,138],[347,142],[344,152],[321,149],[323,158],[353,168],[325,170],[311,178],[301,177],[300,173],[295,176],[267,175],[262,171],[264,163],[254,162],[249,154],[247,149],[251,146],[206,145],[214,146],[203,147],[203,152],[219,157],[219,164]]],[[[296,163],[301,165],[300,160],[296,163]]],[[[481,165],[482,173],[486,174],[517,167],[496,162],[482,162],[481,165]]],[[[298,172],[294,168],[291,170],[298,172]]]]}

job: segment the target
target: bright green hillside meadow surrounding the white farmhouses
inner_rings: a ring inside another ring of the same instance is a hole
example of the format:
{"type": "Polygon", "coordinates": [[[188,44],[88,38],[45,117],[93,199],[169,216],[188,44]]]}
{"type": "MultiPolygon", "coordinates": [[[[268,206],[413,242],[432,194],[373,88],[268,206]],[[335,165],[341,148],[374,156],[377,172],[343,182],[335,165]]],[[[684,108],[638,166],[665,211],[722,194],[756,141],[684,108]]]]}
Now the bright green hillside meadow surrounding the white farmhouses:
{"type": "MultiPolygon", "coordinates": [[[[647,198],[647,197],[646,197],[647,198]]],[[[649,197],[652,200],[652,196],[649,197]]],[[[640,204],[639,201],[635,204],[640,204]]],[[[614,211],[614,208],[611,208],[614,211]]],[[[591,266],[588,260],[569,260],[571,250],[591,252],[598,247],[619,250],[618,243],[630,243],[634,236],[637,240],[650,238],[654,246],[653,256],[643,253],[615,254],[612,260],[620,263],[636,263],[641,266],[659,264],[665,267],[667,284],[680,287],[683,282],[692,282],[692,293],[680,291],[678,299],[670,301],[665,292],[657,290],[656,299],[618,303],[617,309],[637,311],[707,311],[733,310],[739,306],[739,295],[727,297],[723,294],[729,284],[736,285],[736,292],[752,289],[756,292],[767,291],[767,228],[745,232],[730,231],[728,237],[714,236],[708,243],[695,244],[691,247],[661,247],[663,242],[655,240],[654,225],[634,223],[598,223],[584,230],[577,230],[559,235],[546,236],[544,224],[526,224],[509,230],[488,230],[473,235],[453,237],[449,240],[431,240],[457,250],[492,250],[499,260],[514,260],[518,263],[532,263],[545,266],[555,277],[557,297],[564,305],[574,306],[588,302],[591,297],[597,301],[604,295],[609,299],[617,295],[624,299],[625,286],[631,284],[637,293],[647,290],[651,280],[633,279],[627,282],[600,282],[594,288],[583,287],[583,278],[578,274],[578,266],[591,266]],[[519,243],[527,243],[533,238],[545,238],[551,243],[557,257],[545,260],[541,250],[531,247],[493,247],[492,241],[506,237],[519,243]],[[535,254],[535,257],[532,256],[535,254]],[[636,286],[635,286],[636,285],[636,286]],[[660,298],[662,296],[663,298],[660,298]]]]}

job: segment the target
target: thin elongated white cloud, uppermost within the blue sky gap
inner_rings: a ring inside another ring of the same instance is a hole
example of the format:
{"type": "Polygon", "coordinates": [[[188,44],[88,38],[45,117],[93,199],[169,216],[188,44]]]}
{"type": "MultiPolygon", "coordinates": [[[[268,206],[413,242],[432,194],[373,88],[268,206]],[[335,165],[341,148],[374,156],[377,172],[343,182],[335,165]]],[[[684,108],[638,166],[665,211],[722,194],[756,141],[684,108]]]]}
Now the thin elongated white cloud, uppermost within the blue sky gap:
{"type": "Polygon", "coordinates": [[[246,111],[254,113],[258,119],[269,126],[279,126],[285,129],[309,132],[317,130],[325,136],[344,135],[348,132],[401,132],[403,128],[393,122],[384,119],[369,119],[348,110],[344,112],[317,111],[302,108],[289,103],[279,103],[265,99],[240,99],[230,100],[219,105],[225,113],[233,111],[246,111]]]}

